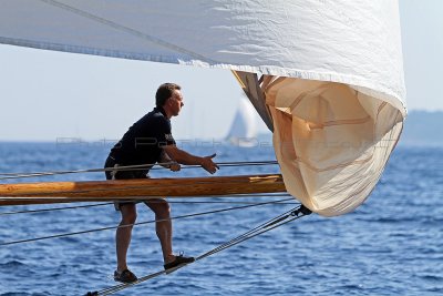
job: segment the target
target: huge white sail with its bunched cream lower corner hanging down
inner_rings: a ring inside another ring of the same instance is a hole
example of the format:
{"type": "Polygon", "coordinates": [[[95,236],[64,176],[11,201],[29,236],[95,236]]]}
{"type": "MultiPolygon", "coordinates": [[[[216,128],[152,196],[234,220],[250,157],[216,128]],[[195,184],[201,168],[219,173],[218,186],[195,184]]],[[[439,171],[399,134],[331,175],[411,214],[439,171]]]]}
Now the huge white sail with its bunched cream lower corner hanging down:
{"type": "Polygon", "coordinates": [[[326,216],[369,196],[406,114],[396,0],[3,0],[0,43],[245,72],[288,192],[326,216]]]}

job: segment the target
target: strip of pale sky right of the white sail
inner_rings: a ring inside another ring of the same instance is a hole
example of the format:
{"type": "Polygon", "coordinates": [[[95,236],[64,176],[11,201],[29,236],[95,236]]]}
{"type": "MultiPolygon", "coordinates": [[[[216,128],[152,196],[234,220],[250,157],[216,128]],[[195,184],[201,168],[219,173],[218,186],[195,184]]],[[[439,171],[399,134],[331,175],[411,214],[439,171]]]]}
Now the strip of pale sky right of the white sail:
{"type": "Polygon", "coordinates": [[[409,110],[443,110],[443,1],[400,0],[409,110]]]}

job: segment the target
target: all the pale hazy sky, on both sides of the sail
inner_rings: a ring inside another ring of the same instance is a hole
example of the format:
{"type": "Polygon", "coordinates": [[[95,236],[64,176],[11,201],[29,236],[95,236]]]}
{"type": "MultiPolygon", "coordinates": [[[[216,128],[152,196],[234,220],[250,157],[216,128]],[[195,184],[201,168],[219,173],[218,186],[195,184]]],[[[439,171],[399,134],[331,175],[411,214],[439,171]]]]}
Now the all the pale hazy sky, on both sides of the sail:
{"type": "MultiPolygon", "coordinates": [[[[442,12],[440,0],[400,0],[409,110],[443,110],[442,12]]],[[[229,71],[0,45],[0,141],[117,140],[163,82],[184,88],[176,139],[227,134],[241,96],[229,71]]]]}

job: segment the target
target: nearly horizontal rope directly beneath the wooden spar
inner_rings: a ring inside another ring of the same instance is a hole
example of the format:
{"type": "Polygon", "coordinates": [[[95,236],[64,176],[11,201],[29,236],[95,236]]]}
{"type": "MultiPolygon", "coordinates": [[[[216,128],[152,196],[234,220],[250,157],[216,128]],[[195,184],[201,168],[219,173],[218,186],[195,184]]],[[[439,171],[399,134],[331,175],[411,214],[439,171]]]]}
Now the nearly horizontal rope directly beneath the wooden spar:
{"type": "MultiPolygon", "coordinates": [[[[236,194],[229,194],[229,195],[217,195],[217,197],[220,196],[236,196],[236,194]]],[[[238,194],[238,196],[243,197],[259,197],[260,195],[258,194],[238,194]]],[[[271,195],[266,195],[266,196],[290,196],[287,193],[280,193],[280,194],[271,194],[271,195]]],[[[137,200],[134,201],[125,201],[125,202],[140,202],[137,200]]],[[[257,202],[243,202],[243,201],[167,201],[169,204],[257,204],[257,202]]],[[[151,201],[151,203],[161,203],[161,202],[155,202],[151,201]]],[[[0,213],[0,216],[7,216],[7,215],[14,215],[14,214],[37,214],[37,213],[42,213],[42,212],[56,212],[56,211],[65,211],[65,210],[76,210],[76,208],[87,208],[87,207],[96,207],[96,206],[105,206],[105,205],[111,205],[114,204],[112,203],[100,203],[100,204],[91,204],[91,205],[79,205],[79,206],[65,206],[65,207],[50,207],[50,208],[39,208],[39,210],[25,210],[25,211],[16,211],[16,212],[2,212],[0,213]]],[[[295,204],[292,202],[290,203],[279,203],[279,204],[295,204]]]]}

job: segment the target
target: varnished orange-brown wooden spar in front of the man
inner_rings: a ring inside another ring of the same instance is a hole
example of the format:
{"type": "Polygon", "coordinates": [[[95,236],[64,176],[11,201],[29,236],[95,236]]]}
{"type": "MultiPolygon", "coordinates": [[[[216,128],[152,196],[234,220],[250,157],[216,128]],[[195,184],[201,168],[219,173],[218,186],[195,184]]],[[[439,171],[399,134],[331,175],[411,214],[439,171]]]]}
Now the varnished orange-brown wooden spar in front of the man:
{"type": "Polygon", "coordinates": [[[286,192],[281,175],[138,178],[0,185],[0,205],[286,192]]]}

